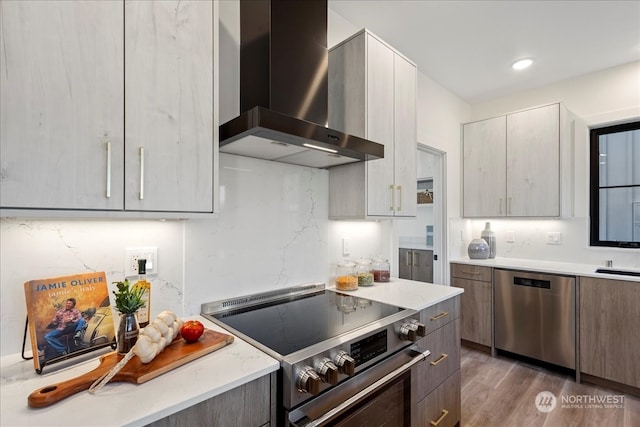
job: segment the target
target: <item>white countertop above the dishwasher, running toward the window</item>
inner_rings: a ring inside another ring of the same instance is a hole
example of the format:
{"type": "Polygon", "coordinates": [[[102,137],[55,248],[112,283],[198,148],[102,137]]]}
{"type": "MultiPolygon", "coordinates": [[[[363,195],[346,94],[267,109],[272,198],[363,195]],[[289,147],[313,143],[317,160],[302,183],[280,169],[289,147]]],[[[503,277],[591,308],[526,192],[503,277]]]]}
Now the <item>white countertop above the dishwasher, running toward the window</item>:
{"type": "Polygon", "coordinates": [[[566,274],[571,276],[587,276],[587,277],[597,277],[600,279],[628,280],[633,282],[640,282],[640,277],[637,277],[637,276],[625,276],[625,275],[619,275],[619,274],[603,274],[603,273],[595,272],[596,269],[598,268],[608,268],[611,270],[638,271],[638,270],[632,270],[629,268],[616,268],[615,266],[605,267],[603,265],[593,265],[593,264],[574,264],[574,263],[568,263],[568,262],[538,261],[538,260],[530,260],[530,259],[501,258],[501,257],[496,257],[494,259],[459,258],[459,259],[451,259],[450,262],[458,263],[458,264],[481,265],[485,267],[533,270],[533,271],[539,271],[541,273],[566,274]]]}

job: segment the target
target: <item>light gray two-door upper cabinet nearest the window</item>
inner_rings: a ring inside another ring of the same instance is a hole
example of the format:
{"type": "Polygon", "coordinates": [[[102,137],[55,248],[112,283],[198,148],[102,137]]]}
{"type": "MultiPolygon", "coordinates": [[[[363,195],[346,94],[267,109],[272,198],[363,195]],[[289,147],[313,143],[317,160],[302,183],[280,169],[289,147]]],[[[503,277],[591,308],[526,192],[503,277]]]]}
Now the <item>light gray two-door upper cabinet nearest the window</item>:
{"type": "Polygon", "coordinates": [[[463,216],[570,215],[570,126],[561,104],[465,124],[463,216]]]}

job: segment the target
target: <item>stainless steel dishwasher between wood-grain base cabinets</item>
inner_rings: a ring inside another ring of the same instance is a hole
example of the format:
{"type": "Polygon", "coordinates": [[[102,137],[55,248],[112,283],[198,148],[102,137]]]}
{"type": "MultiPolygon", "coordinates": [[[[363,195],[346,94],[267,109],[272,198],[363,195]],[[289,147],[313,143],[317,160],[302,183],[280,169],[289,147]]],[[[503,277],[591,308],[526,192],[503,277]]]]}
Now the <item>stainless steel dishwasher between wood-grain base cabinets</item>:
{"type": "Polygon", "coordinates": [[[576,369],[576,279],[494,269],[495,348],[576,369]]]}

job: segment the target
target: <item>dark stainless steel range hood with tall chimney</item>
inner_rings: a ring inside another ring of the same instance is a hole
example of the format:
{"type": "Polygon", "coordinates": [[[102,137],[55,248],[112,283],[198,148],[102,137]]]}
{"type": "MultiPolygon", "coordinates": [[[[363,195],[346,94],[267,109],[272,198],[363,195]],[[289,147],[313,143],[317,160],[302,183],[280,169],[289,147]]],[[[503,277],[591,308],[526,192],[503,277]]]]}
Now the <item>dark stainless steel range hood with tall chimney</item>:
{"type": "Polygon", "coordinates": [[[384,157],[384,146],[326,127],[326,0],[240,1],[240,111],[220,152],[327,168],[384,157]]]}

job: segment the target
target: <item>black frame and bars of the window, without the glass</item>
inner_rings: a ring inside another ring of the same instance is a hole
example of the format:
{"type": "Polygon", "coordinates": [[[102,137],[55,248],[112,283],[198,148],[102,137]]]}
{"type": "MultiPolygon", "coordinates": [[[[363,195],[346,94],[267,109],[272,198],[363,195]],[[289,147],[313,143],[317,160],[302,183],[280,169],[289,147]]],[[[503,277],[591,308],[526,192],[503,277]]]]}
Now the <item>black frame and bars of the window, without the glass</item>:
{"type": "MultiPolygon", "coordinates": [[[[640,242],[600,240],[600,136],[640,129],[640,119],[589,129],[589,246],[638,249],[640,242]]],[[[630,186],[635,186],[634,184],[630,186]]],[[[622,188],[611,186],[602,188],[622,188]]]]}

